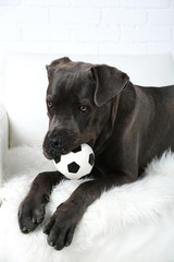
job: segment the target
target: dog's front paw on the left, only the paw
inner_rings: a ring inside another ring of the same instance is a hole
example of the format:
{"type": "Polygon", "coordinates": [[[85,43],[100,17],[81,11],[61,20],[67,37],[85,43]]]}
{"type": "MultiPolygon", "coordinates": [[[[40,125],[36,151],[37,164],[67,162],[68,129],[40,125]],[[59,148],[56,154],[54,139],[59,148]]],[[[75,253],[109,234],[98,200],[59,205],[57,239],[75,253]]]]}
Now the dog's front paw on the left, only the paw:
{"type": "Polygon", "coordinates": [[[33,231],[45,218],[44,201],[27,195],[20,205],[18,209],[18,225],[22,233],[27,234],[33,231]]]}

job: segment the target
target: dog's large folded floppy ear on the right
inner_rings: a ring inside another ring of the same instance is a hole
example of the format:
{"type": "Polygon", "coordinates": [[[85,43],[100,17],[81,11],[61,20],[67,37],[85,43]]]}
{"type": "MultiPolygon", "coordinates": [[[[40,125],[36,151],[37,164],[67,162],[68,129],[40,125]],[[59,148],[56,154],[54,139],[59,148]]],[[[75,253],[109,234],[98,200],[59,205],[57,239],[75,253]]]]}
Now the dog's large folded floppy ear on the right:
{"type": "Polygon", "coordinates": [[[99,107],[116,96],[129,81],[126,73],[105,64],[92,67],[91,73],[96,82],[95,103],[99,107]]]}

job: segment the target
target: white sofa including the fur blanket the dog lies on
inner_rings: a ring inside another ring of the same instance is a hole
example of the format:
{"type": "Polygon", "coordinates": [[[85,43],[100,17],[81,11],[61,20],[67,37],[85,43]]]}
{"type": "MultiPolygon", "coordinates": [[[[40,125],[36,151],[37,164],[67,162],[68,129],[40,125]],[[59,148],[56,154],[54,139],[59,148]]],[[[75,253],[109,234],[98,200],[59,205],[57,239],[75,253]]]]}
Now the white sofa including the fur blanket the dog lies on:
{"type": "MultiPolygon", "coordinates": [[[[173,262],[174,154],[170,148],[148,164],[138,181],[103,192],[87,209],[70,247],[55,251],[48,246],[42,228],[83,180],[66,180],[55,187],[44,223],[28,235],[20,231],[17,209],[30,182],[38,172],[54,170],[41,148],[48,128],[45,66],[62,56],[8,52],[4,57],[0,105],[0,261],[173,262]]],[[[174,84],[170,53],[69,57],[116,67],[134,84],[174,84]]]]}

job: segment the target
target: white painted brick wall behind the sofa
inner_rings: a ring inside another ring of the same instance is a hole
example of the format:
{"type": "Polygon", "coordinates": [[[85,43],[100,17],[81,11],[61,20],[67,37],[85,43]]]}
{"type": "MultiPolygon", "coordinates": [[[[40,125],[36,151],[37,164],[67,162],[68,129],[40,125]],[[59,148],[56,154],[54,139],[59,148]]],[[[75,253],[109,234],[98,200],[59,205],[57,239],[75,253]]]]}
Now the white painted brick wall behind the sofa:
{"type": "Polygon", "coordinates": [[[8,50],[174,56],[174,0],[0,0],[8,50]]]}

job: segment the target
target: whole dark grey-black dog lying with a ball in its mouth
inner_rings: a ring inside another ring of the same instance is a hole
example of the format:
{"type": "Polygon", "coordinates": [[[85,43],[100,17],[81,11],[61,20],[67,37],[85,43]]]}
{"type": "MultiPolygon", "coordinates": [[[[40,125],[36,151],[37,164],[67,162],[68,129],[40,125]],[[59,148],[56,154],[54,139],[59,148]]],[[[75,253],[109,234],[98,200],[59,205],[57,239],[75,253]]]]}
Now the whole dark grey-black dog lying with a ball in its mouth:
{"type": "MultiPolygon", "coordinates": [[[[53,61],[47,70],[50,122],[45,156],[57,159],[82,143],[92,146],[96,155],[94,180],[82,183],[46,225],[48,243],[61,250],[104,190],[135,181],[154,156],[174,150],[174,86],[136,86],[115,68],[69,58],[53,61]]],[[[52,187],[63,178],[58,171],[36,177],[18,211],[23,233],[44,221],[52,187]]]]}

